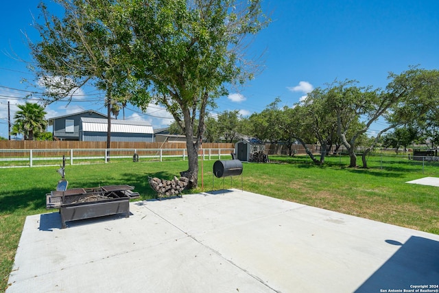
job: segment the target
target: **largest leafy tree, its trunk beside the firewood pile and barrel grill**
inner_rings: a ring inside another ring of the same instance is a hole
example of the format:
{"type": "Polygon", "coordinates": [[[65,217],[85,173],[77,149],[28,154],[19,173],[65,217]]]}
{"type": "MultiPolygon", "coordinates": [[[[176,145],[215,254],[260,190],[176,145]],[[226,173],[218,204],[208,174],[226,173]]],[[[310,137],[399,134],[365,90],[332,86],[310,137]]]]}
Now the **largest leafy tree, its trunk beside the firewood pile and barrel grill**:
{"type": "Polygon", "coordinates": [[[41,76],[54,71],[56,60],[55,69],[65,69],[63,76],[75,86],[93,80],[109,100],[142,109],[151,102],[165,106],[186,135],[185,176],[195,187],[206,108],[227,93],[225,84],[253,76],[255,67],[242,49],[268,23],[261,0],[58,2],[66,16],[62,21],[46,17],[51,30],[40,30],[43,42],[32,47],[45,69],[41,76]],[[39,47],[49,48],[49,54],[39,47]],[[62,58],[51,54],[59,49],[65,51],[62,58]]]}

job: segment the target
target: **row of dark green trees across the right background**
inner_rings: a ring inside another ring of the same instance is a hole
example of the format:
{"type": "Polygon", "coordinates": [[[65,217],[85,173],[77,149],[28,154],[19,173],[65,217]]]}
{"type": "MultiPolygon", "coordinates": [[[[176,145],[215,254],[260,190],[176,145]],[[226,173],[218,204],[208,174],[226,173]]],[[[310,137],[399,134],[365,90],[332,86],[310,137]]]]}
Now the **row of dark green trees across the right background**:
{"type": "Polygon", "coordinates": [[[365,149],[363,167],[367,167],[366,156],[378,144],[398,149],[428,142],[436,148],[439,71],[410,67],[400,74],[390,73],[389,80],[385,89],[358,86],[355,80],[335,80],[325,88],[314,89],[292,107],[281,108],[281,99],[276,98],[261,113],[249,117],[242,117],[237,110],[224,111],[206,118],[204,138],[233,142],[242,135],[271,143],[283,141],[290,155],[292,144],[298,141],[316,164],[323,164],[327,154],[343,145],[351,157],[351,167],[357,166],[357,146],[365,149]],[[368,136],[370,126],[380,118],[387,126],[368,136]],[[320,158],[307,149],[309,143],[321,146],[320,158]]]}

